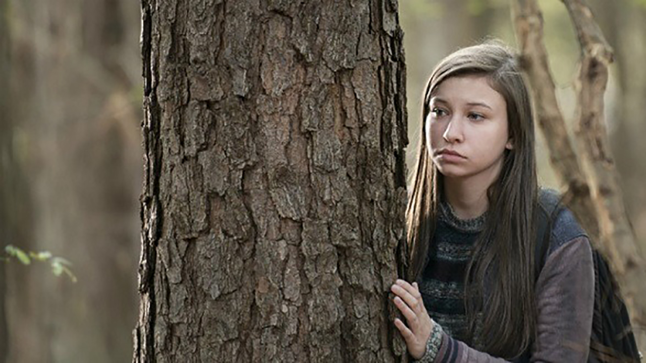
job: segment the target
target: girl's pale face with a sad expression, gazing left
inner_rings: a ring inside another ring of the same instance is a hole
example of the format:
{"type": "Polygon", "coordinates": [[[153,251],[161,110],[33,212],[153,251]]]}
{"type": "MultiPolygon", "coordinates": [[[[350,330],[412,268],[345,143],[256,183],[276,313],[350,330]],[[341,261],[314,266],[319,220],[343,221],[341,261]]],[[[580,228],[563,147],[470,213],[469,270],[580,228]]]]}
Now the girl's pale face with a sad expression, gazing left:
{"type": "Polygon", "coordinates": [[[445,180],[497,178],[505,149],[512,149],[505,98],[483,76],[445,79],[424,120],[430,157],[445,180]]]}

